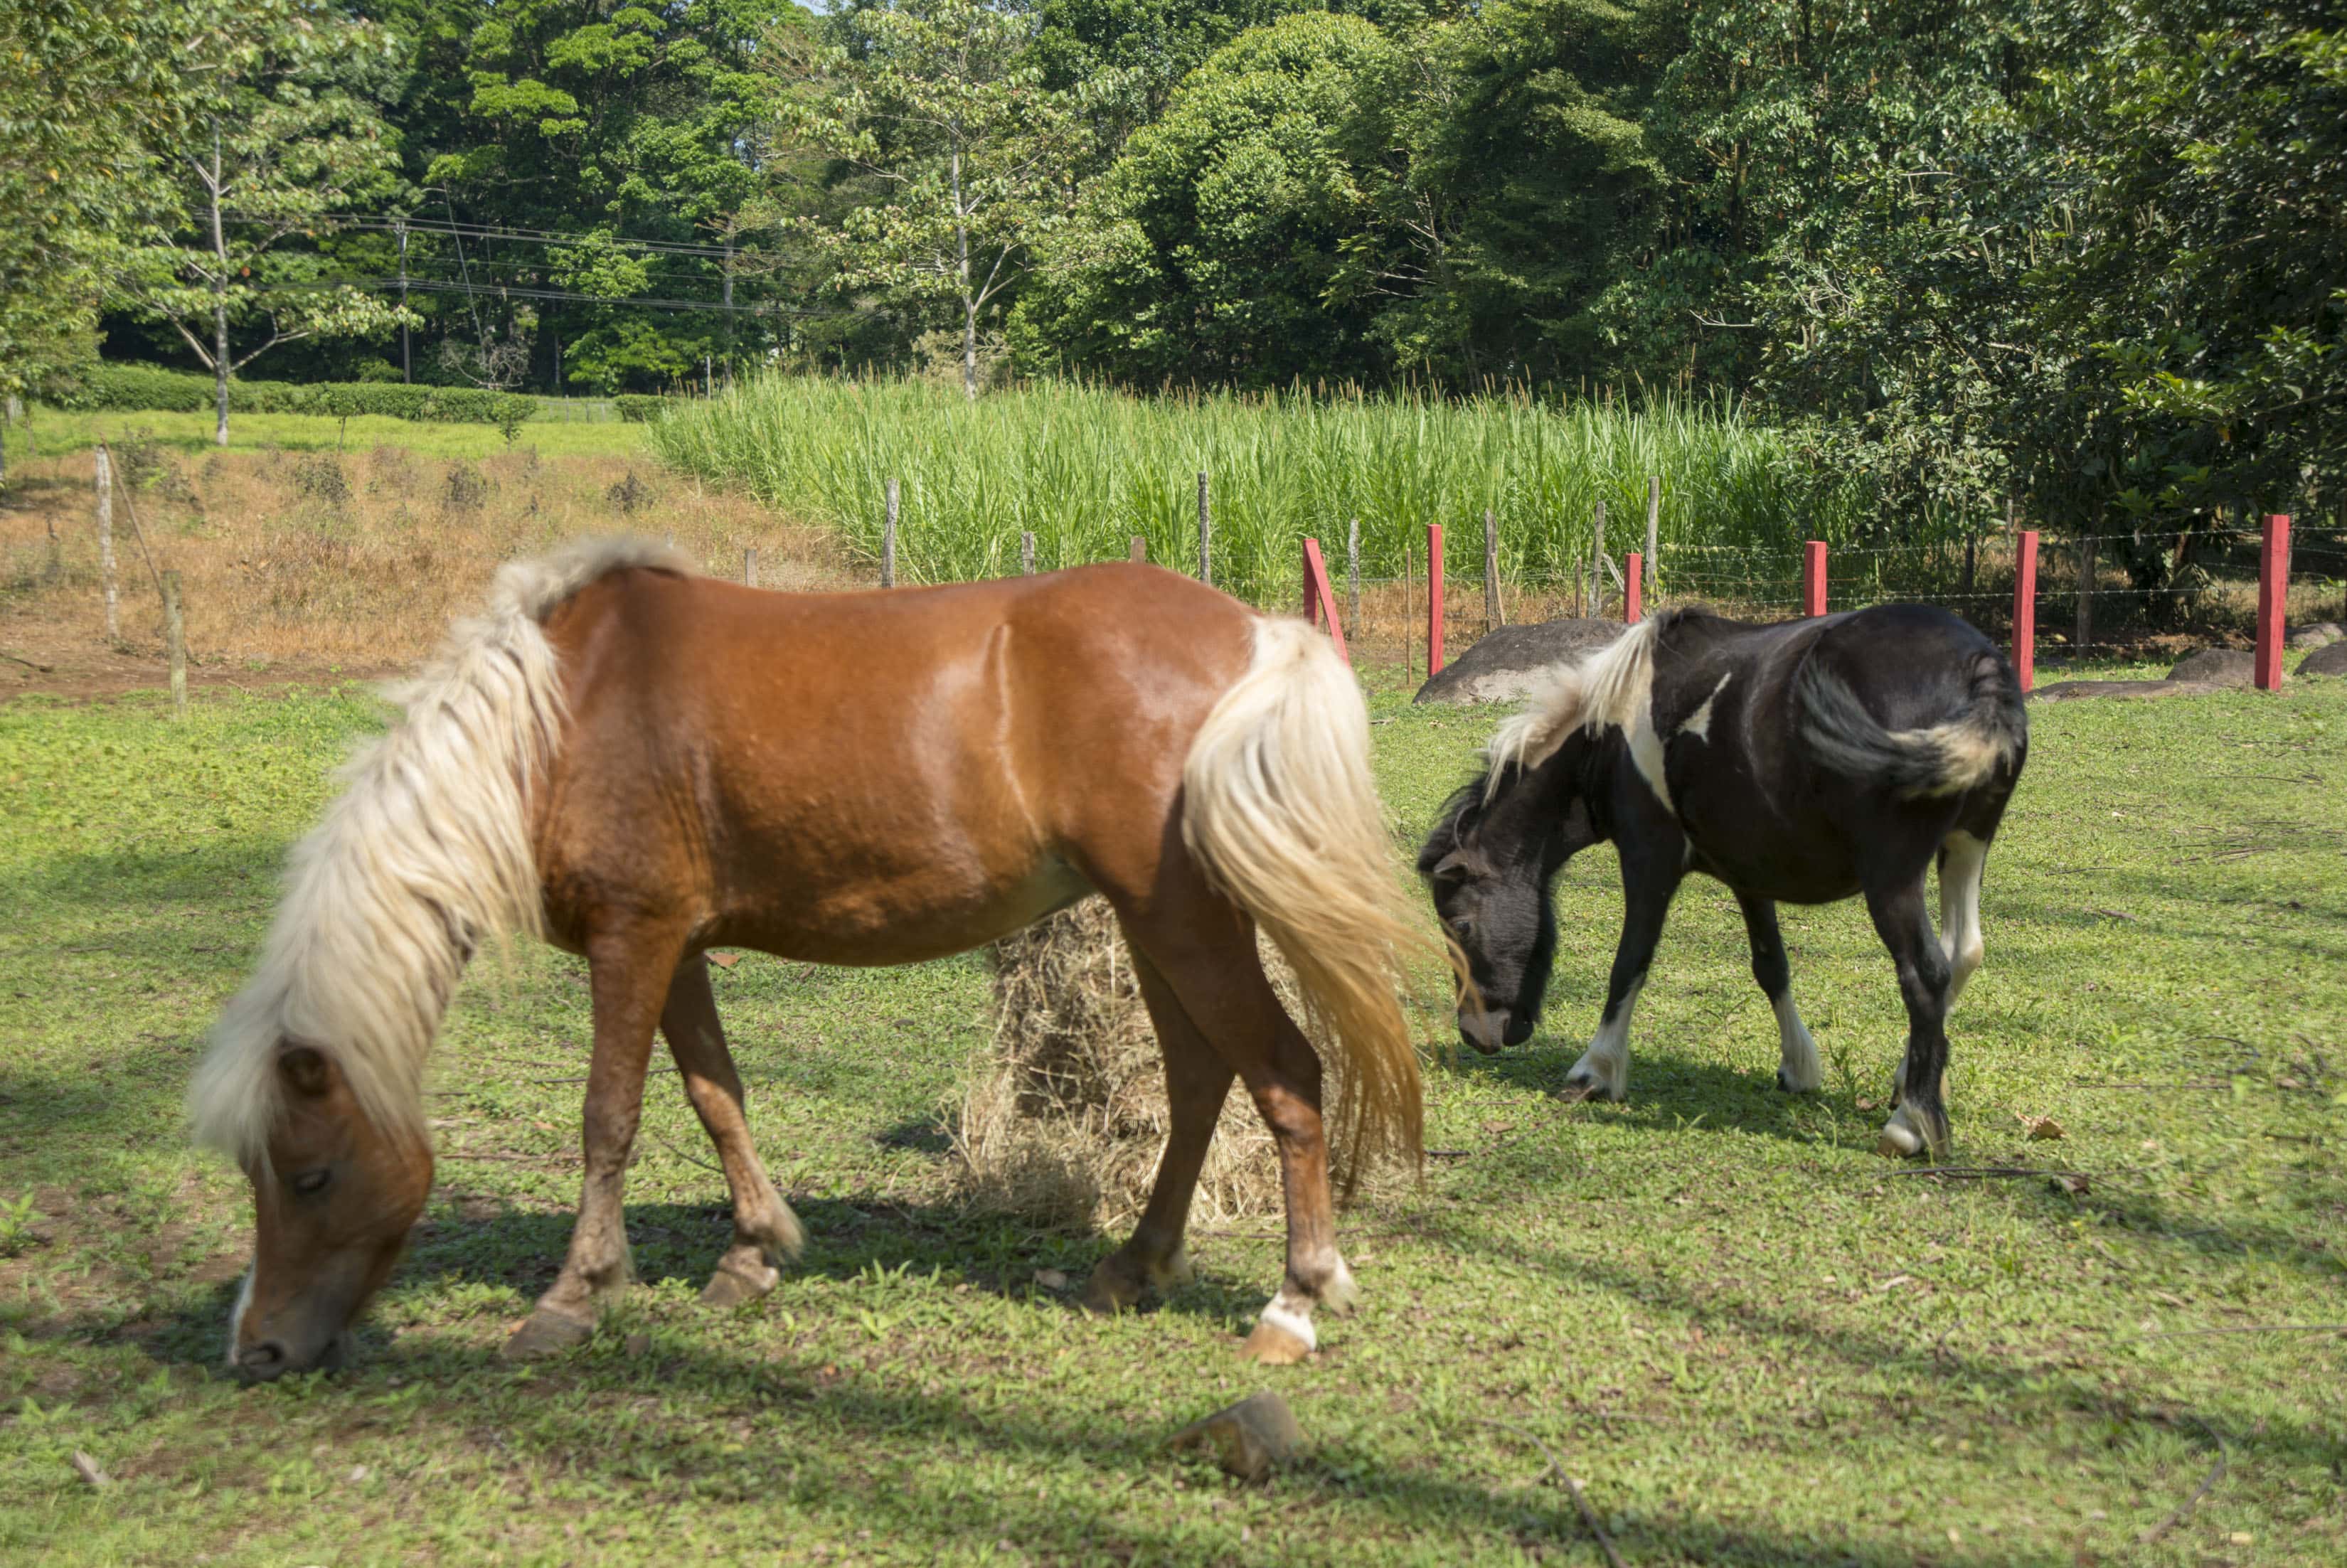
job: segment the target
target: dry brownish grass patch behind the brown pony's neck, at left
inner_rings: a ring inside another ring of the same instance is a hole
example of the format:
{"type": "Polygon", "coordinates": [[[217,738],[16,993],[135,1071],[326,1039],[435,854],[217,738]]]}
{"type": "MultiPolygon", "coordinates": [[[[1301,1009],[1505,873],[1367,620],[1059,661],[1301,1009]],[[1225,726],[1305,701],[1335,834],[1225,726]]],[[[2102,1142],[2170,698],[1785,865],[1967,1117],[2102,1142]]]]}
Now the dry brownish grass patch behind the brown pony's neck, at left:
{"type": "Polygon", "coordinates": [[[138,439],[113,453],[117,643],[106,638],[89,453],[9,472],[0,648],[16,674],[160,662],[148,552],[181,573],[190,660],[216,674],[411,664],[500,563],[591,533],[674,535],[725,577],[756,549],[765,587],[847,582],[828,533],[652,458],[540,458],[533,446],[479,460],[406,446],[183,455],[138,439]]]}

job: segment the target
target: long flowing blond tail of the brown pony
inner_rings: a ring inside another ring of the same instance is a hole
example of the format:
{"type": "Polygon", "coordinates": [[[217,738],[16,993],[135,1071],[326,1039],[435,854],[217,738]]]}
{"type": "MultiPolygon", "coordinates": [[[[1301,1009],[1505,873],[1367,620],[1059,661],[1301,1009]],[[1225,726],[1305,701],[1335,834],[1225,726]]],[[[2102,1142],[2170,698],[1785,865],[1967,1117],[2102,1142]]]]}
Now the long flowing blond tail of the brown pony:
{"type": "Polygon", "coordinates": [[[1305,1028],[1335,1047],[1347,1183],[1378,1153],[1422,1155],[1418,1049],[1396,993],[1439,953],[1394,880],[1368,775],[1368,709],[1326,636],[1258,620],[1256,650],[1183,761],[1183,843],[1296,969],[1305,1028]]]}

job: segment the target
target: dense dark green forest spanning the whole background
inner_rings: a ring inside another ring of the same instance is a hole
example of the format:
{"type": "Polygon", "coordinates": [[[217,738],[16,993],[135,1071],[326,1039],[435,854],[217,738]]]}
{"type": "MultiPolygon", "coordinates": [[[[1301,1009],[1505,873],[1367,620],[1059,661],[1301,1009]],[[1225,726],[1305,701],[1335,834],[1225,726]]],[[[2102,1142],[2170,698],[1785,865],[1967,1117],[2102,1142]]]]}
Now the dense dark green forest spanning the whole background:
{"type": "MultiPolygon", "coordinates": [[[[268,237],[228,357],[289,336],[261,305],[293,284],[390,300],[406,268],[422,319],[326,322],[282,376],[1732,394],[1878,516],[2016,498],[2133,530],[2140,587],[2347,484],[2347,33],[2316,0],[195,5],[87,59],[75,0],[7,23],[38,82],[0,87],[9,265],[82,319],[113,286],[115,357],[202,345],[61,237],[199,251],[185,150],[230,103],[305,204],[211,246],[268,237]],[[195,70],[157,66],[178,38],[195,70]],[[66,153],[136,178],[49,181],[66,153]]],[[[23,383],[40,317],[12,322],[23,383]]]]}

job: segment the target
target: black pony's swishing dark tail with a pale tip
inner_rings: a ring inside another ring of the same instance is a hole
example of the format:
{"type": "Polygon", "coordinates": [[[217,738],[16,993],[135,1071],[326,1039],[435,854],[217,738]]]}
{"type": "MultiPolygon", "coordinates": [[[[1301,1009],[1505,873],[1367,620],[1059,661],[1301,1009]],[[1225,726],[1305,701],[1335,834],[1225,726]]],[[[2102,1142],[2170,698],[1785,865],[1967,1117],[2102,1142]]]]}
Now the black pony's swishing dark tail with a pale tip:
{"type": "Polygon", "coordinates": [[[1901,800],[1976,789],[2000,768],[2016,768],[2030,744],[2021,683],[1995,653],[1971,655],[1964,709],[1922,730],[1885,730],[1814,655],[1800,671],[1800,735],[1819,763],[1880,782],[1901,800]]]}

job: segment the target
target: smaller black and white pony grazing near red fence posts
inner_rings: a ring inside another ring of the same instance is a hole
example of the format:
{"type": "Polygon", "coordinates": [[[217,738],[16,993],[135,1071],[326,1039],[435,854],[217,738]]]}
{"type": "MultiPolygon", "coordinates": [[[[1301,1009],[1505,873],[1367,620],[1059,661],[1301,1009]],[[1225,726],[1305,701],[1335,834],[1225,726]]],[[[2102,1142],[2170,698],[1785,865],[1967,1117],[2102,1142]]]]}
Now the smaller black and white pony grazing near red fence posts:
{"type": "Polygon", "coordinates": [[[2011,667],[1946,610],[1882,606],[1774,627],[1709,610],[1650,617],[1500,725],[1486,775],[1450,798],[1418,857],[1474,976],[1460,1035],[1483,1052],[1533,1035],[1556,958],[1551,883],[1610,838],[1622,944],[1568,1094],[1629,1091],[1631,1009],[1690,871],[1727,883],[1744,908],[1753,979],[1777,1009],[1777,1084],[1817,1089],[1777,904],[1864,894],[1908,1009],[1878,1148],[1939,1155],[1948,1005],[1981,967],[1981,869],[2025,756],[2011,667]],[[1925,908],[1934,857],[1939,937],[1925,908]]]}

